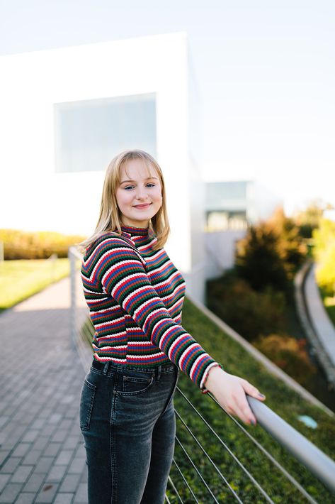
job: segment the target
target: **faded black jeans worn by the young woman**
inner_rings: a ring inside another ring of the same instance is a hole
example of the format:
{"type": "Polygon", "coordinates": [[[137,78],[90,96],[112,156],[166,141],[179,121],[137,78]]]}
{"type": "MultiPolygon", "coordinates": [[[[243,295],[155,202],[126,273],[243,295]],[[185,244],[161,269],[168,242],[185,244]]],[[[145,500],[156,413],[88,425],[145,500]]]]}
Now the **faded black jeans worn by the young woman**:
{"type": "Polygon", "coordinates": [[[89,504],[164,503],[177,379],[172,363],[139,369],[93,361],[80,405],[89,504]]]}

